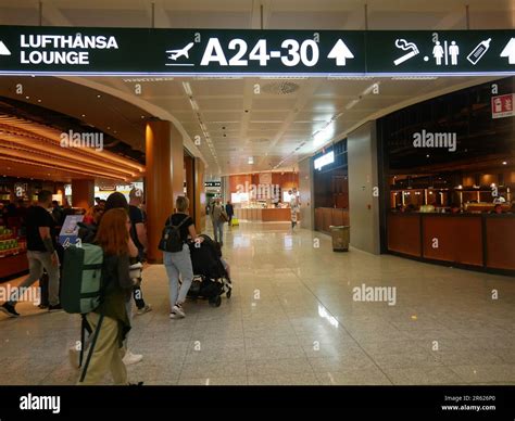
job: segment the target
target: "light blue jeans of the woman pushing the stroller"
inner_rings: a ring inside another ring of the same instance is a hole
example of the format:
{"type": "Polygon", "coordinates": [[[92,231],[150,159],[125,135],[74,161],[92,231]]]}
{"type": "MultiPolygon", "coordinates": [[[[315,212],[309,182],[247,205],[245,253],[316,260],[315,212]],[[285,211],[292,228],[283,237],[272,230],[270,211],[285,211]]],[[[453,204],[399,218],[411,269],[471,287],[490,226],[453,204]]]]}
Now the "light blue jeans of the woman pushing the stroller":
{"type": "Polygon", "coordinates": [[[183,250],[177,253],[163,252],[163,263],[169,282],[169,306],[183,304],[193,280],[193,268],[188,244],[184,244],[183,250]],[[180,289],[179,273],[183,279],[180,289]]]}

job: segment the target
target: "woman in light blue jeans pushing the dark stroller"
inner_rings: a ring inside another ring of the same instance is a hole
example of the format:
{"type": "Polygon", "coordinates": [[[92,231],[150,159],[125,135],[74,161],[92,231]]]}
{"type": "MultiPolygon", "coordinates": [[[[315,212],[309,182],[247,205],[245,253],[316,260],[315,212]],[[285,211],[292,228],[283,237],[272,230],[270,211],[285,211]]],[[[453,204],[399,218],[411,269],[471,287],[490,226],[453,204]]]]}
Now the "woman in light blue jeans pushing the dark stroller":
{"type": "Polygon", "coordinates": [[[193,219],[188,215],[188,197],[178,196],[175,202],[176,213],[169,216],[165,222],[165,225],[179,227],[180,241],[183,242],[183,250],[180,252],[163,252],[163,263],[169,282],[171,319],[186,317],[183,304],[186,301],[186,295],[193,280],[193,268],[191,265],[189,245],[187,244],[188,237],[199,243],[204,240],[202,237],[197,235],[193,219]],[[183,280],[180,288],[179,275],[183,280]]]}

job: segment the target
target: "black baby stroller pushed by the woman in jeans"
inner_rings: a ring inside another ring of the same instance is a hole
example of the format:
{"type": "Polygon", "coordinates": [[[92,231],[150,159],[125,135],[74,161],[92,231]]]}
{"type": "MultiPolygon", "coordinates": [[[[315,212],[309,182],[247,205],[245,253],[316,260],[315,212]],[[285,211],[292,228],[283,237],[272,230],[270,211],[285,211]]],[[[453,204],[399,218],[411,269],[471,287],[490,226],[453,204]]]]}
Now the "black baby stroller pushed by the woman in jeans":
{"type": "Polygon", "coordinates": [[[189,244],[194,276],[188,297],[209,299],[211,306],[219,307],[223,294],[230,298],[233,283],[221,260],[219,246],[209,235],[200,237],[202,243],[189,244]]]}

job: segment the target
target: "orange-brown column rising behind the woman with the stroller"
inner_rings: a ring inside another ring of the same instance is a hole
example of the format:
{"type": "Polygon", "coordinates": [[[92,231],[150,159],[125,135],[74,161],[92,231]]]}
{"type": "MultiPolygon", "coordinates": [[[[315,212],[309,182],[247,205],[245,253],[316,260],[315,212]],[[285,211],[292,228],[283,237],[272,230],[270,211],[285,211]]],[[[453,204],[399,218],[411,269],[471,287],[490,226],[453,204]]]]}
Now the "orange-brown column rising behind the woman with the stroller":
{"type": "Polygon", "coordinates": [[[183,136],[169,122],[151,120],[146,129],[146,196],[149,263],[162,263],[158,248],[166,218],[174,212],[175,200],[184,195],[183,136]]]}

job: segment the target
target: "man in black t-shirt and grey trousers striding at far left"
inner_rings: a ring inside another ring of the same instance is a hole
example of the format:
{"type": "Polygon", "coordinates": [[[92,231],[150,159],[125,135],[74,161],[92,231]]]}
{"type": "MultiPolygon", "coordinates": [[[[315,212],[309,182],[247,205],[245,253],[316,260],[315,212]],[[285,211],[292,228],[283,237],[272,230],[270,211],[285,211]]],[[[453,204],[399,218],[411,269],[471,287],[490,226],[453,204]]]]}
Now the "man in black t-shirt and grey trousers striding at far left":
{"type": "Polygon", "coordinates": [[[25,221],[27,227],[27,259],[28,277],[20,284],[18,289],[11,294],[10,299],[0,306],[10,317],[18,317],[16,303],[21,298],[17,291],[33,285],[43,273],[49,278],[49,311],[60,310],[59,303],[59,256],[55,242],[55,221],[50,214],[52,206],[52,192],[41,190],[38,194],[38,203],[27,209],[25,221]]]}

